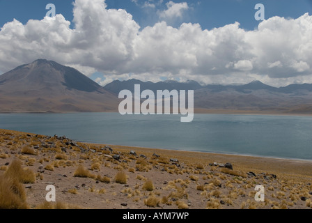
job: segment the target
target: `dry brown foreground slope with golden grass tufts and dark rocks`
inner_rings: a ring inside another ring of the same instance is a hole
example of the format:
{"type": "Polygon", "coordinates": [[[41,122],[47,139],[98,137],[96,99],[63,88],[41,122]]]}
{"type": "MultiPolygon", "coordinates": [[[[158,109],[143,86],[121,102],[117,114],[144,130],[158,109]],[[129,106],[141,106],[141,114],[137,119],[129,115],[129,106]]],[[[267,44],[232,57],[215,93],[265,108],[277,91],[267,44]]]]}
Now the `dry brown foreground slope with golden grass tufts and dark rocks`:
{"type": "Polygon", "coordinates": [[[86,144],[0,130],[0,208],[306,209],[312,161],[86,144]],[[47,202],[47,185],[56,202],[47,202]],[[255,200],[256,185],[265,200],[255,200]]]}

